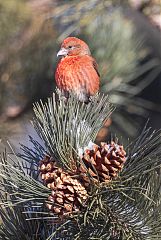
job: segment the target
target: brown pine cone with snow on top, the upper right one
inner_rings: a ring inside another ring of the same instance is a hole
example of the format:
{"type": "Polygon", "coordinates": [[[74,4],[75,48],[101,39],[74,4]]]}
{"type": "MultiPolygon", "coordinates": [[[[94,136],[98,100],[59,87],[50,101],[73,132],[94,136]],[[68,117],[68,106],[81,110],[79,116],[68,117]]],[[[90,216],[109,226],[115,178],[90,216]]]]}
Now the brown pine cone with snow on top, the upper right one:
{"type": "Polygon", "coordinates": [[[125,156],[123,146],[113,141],[110,144],[102,142],[101,146],[94,144],[92,150],[86,149],[79,169],[84,185],[89,185],[89,175],[95,183],[116,178],[124,166],[125,156]]]}

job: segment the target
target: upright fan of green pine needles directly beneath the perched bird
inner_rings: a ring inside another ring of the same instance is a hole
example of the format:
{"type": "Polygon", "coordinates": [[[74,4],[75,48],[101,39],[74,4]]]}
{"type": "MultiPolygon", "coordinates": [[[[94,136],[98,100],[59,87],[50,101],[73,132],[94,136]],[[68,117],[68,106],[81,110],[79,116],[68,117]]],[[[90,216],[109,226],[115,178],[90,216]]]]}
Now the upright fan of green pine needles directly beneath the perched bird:
{"type": "Polygon", "coordinates": [[[80,104],[72,95],[66,100],[58,93],[58,101],[53,94],[47,103],[34,105],[33,125],[53,158],[71,169],[71,163],[78,159],[79,149],[95,140],[113,109],[106,96],[98,95],[87,105],[80,104]]]}

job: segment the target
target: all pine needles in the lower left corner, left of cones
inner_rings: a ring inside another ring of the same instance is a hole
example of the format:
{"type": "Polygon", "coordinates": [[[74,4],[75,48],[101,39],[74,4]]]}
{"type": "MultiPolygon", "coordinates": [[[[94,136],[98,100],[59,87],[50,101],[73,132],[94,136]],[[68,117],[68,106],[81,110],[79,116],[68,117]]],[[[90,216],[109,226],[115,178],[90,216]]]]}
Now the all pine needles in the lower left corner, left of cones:
{"type": "Polygon", "coordinates": [[[35,173],[37,169],[32,169],[32,163],[30,162],[27,168],[26,165],[27,163],[21,162],[14,153],[1,154],[0,239],[2,240],[45,240],[52,232],[53,226],[44,220],[44,201],[49,191],[39,181],[33,179],[33,171],[35,173]]]}

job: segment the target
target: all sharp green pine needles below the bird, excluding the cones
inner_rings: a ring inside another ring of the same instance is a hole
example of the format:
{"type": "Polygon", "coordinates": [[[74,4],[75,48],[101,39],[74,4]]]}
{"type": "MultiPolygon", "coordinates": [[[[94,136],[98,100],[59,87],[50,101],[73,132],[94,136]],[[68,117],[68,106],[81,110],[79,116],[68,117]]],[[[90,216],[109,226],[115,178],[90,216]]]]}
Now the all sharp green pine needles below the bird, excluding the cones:
{"type": "Polygon", "coordinates": [[[60,217],[46,208],[50,190],[39,178],[39,161],[48,153],[72,172],[73,161],[81,164],[80,149],[95,140],[112,109],[106,96],[85,105],[60,92],[57,100],[54,94],[35,104],[33,123],[45,147],[30,137],[32,148],[21,145],[21,154],[1,155],[0,239],[161,239],[161,133],[146,126],[127,146],[119,176],[91,184],[80,212],[60,217]]]}

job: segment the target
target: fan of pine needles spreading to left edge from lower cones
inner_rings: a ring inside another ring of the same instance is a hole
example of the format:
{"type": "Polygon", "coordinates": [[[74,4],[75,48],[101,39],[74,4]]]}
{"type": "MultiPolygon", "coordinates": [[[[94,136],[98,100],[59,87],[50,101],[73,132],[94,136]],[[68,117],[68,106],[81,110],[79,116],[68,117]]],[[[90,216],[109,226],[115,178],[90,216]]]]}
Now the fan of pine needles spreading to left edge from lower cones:
{"type": "Polygon", "coordinates": [[[34,202],[44,204],[49,190],[27,172],[16,155],[4,153],[0,162],[1,191],[8,193],[8,199],[1,205],[16,206],[20,203],[34,202]]]}

